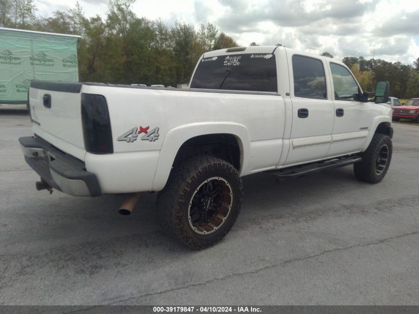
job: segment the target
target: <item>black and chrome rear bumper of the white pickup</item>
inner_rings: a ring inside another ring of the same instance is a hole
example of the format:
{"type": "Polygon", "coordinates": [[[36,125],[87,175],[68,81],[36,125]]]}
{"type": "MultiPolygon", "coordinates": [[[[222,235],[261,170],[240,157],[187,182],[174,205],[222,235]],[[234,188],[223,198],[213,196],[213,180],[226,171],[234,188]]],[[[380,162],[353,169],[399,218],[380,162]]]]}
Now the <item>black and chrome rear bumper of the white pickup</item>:
{"type": "Polygon", "coordinates": [[[51,187],[74,196],[100,196],[96,175],[84,163],[65,154],[40,137],[19,138],[25,160],[51,187]]]}

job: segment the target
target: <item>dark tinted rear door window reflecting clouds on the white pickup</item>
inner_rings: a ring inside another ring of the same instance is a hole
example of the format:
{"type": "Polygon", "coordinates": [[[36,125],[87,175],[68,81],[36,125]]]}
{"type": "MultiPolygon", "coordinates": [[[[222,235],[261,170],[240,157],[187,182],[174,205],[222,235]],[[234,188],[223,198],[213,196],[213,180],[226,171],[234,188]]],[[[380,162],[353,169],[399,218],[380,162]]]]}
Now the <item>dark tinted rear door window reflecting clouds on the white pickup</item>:
{"type": "Polygon", "coordinates": [[[326,99],[326,77],[323,63],[314,58],[293,56],[294,95],[326,99]]]}

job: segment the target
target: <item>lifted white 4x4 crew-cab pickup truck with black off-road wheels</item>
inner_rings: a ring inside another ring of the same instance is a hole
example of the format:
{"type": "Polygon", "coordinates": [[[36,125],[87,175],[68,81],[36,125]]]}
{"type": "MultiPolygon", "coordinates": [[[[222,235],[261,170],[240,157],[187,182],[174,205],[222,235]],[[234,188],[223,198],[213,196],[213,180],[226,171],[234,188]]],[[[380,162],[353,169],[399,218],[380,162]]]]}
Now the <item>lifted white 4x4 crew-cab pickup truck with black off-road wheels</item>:
{"type": "MultiPolygon", "coordinates": [[[[207,52],[188,89],[32,81],[33,136],[19,139],[38,189],[76,196],[159,191],[163,229],[195,249],[236,221],[240,177],[354,164],[377,183],[391,161],[388,82],[368,102],[348,67],[285,47],[207,52]]],[[[132,198],[131,197],[131,198],[132,198]]],[[[131,199],[132,200],[132,199],[131,199]]]]}

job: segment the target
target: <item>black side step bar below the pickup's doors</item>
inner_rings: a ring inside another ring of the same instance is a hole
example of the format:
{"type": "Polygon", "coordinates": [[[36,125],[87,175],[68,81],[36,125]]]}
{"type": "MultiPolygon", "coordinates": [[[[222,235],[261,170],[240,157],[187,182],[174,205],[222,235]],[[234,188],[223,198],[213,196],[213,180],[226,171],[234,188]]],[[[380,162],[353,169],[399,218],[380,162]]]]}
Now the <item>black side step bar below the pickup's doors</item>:
{"type": "Polygon", "coordinates": [[[300,165],[300,166],[285,168],[278,172],[275,172],[273,175],[277,177],[277,179],[279,180],[289,179],[289,178],[298,178],[298,177],[302,177],[313,172],[325,171],[325,170],[329,170],[333,168],[339,168],[343,166],[352,165],[361,160],[362,158],[359,156],[335,158],[335,159],[326,160],[323,162],[317,162],[317,163],[312,163],[308,165],[300,165]]]}

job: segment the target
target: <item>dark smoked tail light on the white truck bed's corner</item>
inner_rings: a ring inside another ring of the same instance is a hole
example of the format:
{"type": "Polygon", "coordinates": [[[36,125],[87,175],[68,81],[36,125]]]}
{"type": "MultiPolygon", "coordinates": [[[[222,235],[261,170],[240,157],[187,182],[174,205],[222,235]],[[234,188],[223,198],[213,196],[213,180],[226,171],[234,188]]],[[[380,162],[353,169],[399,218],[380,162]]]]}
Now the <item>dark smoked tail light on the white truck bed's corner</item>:
{"type": "Polygon", "coordinates": [[[81,120],[86,150],[94,154],[112,154],[111,121],[105,97],[81,94],[81,120]]]}

